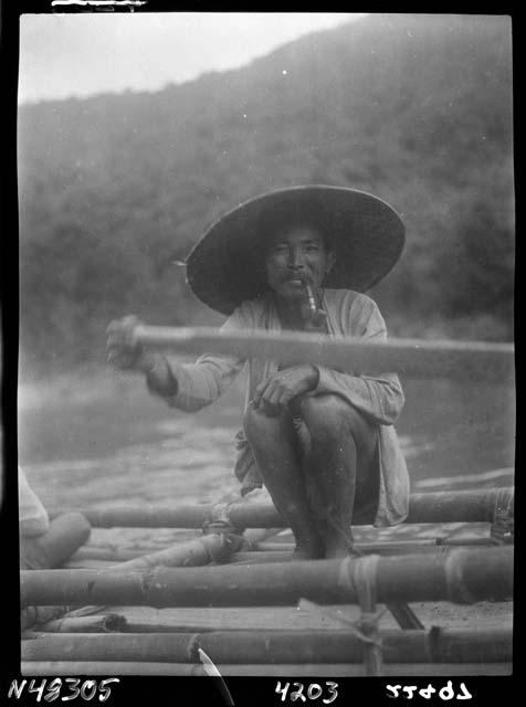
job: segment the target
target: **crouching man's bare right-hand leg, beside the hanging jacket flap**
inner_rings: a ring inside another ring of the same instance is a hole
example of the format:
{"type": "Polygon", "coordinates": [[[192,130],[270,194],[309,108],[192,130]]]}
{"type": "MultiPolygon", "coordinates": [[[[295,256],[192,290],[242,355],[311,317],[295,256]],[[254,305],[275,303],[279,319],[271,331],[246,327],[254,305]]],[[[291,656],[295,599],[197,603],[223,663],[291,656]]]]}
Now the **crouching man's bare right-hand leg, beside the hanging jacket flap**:
{"type": "Polygon", "coordinates": [[[298,408],[311,437],[304,460],[309,505],[318,518],[326,557],[340,557],[353,548],[357,499],[376,500],[371,475],[377,474],[377,431],[339,395],[304,395],[298,408]]]}

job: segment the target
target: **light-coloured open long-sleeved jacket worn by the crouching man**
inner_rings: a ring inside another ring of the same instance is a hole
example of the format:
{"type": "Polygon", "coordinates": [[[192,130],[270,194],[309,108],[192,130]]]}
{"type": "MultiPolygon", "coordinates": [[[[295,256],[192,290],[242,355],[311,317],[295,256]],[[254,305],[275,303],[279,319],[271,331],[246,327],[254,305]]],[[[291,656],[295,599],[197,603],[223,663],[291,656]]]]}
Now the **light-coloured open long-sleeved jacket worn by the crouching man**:
{"type": "MultiPolygon", "coordinates": [[[[367,295],[349,289],[325,289],[322,293],[327,313],[328,335],[346,339],[366,338],[383,340],[386,324],[375,302],[367,295]]],[[[280,331],[281,323],[272,296],[243,302],[223,325],[229,329],[263,329],[280,331]]],[[[193,412],[213,402],[230,386],[245,363],[249,366],[249,383],[245,407],[257,384],[277,372],[274,361],[206,354],[196,363],[177,368],[178,392],[166,398],[168,404],[193,412]]],[[[353,362],[346,370],[317,367],[319,382],[312,395],[336,393],[377,425],[380,463],[380,498],[376,526],[401,523],[408,515],[409,475],[392,426],[403,407],[403,392],[394,373],[357,376],[353,362]]],[[[243,432],[236,435],[238,457],[235,475],[242,484],[242,494],[261,487],[254,458],[243,432]]]]}

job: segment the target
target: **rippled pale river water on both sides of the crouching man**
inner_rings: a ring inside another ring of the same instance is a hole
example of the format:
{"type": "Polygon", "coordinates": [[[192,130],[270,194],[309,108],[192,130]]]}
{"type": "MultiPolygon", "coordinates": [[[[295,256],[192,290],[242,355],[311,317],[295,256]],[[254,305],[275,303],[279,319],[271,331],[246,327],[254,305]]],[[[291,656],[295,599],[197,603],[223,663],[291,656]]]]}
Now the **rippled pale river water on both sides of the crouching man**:
{"type": "MultiPolygon", "coordinates": [[[[123,373],[22,386],[20,464],[50,508],[217,500],[236,487],[243,384],[194,414],[169,409],[123,373]]],[[[397,430],[413,492],[513,484],[512,388],[406,381],[404,392],[397,430]]]]}

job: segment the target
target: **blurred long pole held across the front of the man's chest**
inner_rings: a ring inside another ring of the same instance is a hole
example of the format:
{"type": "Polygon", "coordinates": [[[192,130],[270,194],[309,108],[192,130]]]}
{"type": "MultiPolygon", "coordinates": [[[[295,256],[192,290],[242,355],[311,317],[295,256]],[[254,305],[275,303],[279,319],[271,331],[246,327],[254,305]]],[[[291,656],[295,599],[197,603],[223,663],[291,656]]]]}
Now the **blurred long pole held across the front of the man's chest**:
{"type": "Polygon", "coordinates": [[[283,365],[305,361],[356,374],[393,371],[413,378],[512,382],[514,346],[480,341],[336,339],[307,333],[218,331],[210,327],[135,327],[135,340],[155,348],[200,355],[213,351],[283,365]]]}

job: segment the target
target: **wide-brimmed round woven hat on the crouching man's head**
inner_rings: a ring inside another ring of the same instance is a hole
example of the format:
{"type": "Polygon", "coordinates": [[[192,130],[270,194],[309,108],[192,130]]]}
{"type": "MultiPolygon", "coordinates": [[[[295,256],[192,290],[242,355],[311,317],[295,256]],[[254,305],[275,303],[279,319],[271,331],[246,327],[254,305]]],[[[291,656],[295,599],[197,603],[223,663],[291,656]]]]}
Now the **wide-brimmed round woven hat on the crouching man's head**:
{"type": "Polygon", "coordinates": [[[269,289],[264,246],[273,225],[317,226],[335,253],[324,286],[365,292],[400,257],[406,229],[385,201],[344,187],[307,184],[251,199],[213,223],[189,253],[187,278],[209,307],[231,314],[269,289]]]}

